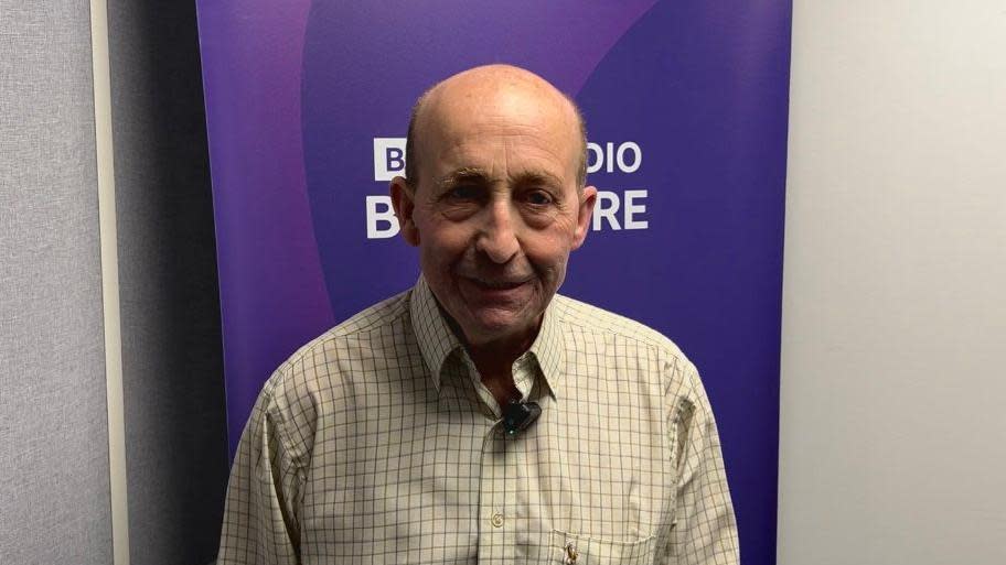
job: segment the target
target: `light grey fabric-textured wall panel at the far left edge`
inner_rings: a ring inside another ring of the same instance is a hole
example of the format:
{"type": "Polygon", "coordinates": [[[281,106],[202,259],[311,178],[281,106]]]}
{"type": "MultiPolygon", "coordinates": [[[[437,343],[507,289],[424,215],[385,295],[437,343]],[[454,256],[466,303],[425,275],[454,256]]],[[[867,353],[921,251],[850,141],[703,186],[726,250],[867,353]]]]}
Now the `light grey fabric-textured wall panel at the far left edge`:
{"type": "Polygon", "coordinates": [[[111,562],[86,2],[0,1],[0,563],[111,562]]]}

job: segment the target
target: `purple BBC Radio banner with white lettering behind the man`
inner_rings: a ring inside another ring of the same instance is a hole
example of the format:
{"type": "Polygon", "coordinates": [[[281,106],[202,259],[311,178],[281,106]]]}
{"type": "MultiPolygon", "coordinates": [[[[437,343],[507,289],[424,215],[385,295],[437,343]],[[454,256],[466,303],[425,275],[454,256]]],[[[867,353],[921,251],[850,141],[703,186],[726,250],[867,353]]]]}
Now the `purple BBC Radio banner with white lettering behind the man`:
{"type": "Polygon", "coordinates": [[[300,345],[408,289],[415,99],[486,63],[579,104],[599,197],[560,292],[698,366],[746,565],[774,563],[791,4],[199,0],[232,453],[300,345]]]}

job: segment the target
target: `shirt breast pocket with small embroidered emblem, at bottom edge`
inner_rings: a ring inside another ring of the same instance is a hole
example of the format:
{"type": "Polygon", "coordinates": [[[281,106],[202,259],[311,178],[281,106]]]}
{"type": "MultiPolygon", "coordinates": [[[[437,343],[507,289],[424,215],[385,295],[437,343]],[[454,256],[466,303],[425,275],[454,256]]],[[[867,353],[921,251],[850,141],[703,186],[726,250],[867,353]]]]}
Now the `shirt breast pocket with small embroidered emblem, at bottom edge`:
{"type": "Polygon", "coordinates": [[[613,542],[553,530],[548,563],[564,565],[642,565],[653,563],[656,536],[613,542]]]}

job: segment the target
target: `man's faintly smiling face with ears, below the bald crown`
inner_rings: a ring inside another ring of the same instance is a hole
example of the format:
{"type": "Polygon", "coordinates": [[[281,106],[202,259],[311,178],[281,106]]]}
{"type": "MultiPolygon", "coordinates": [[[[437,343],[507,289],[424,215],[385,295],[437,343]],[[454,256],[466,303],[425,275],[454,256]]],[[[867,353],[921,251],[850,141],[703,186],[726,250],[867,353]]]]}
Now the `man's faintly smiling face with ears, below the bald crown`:
{"type": "Polygon", "coordinates": [[[577,188],[575,115],[565,100],[520,88],[431,104],[415,191],[393,182],[403,235],[470,344],[529,339],[596,199],[593,187],[577,188]]]}

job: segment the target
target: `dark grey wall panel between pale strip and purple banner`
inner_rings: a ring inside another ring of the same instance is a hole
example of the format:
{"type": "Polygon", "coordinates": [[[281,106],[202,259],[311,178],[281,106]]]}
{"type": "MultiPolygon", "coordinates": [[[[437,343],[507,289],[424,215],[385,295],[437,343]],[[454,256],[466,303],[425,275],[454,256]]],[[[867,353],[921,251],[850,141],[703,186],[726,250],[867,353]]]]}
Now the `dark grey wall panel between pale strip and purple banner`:
{"type": "Polygon", "coordinates": [[[194,2],[108,3],[132,565],[213,559],[227,480],[194,2]]]}

